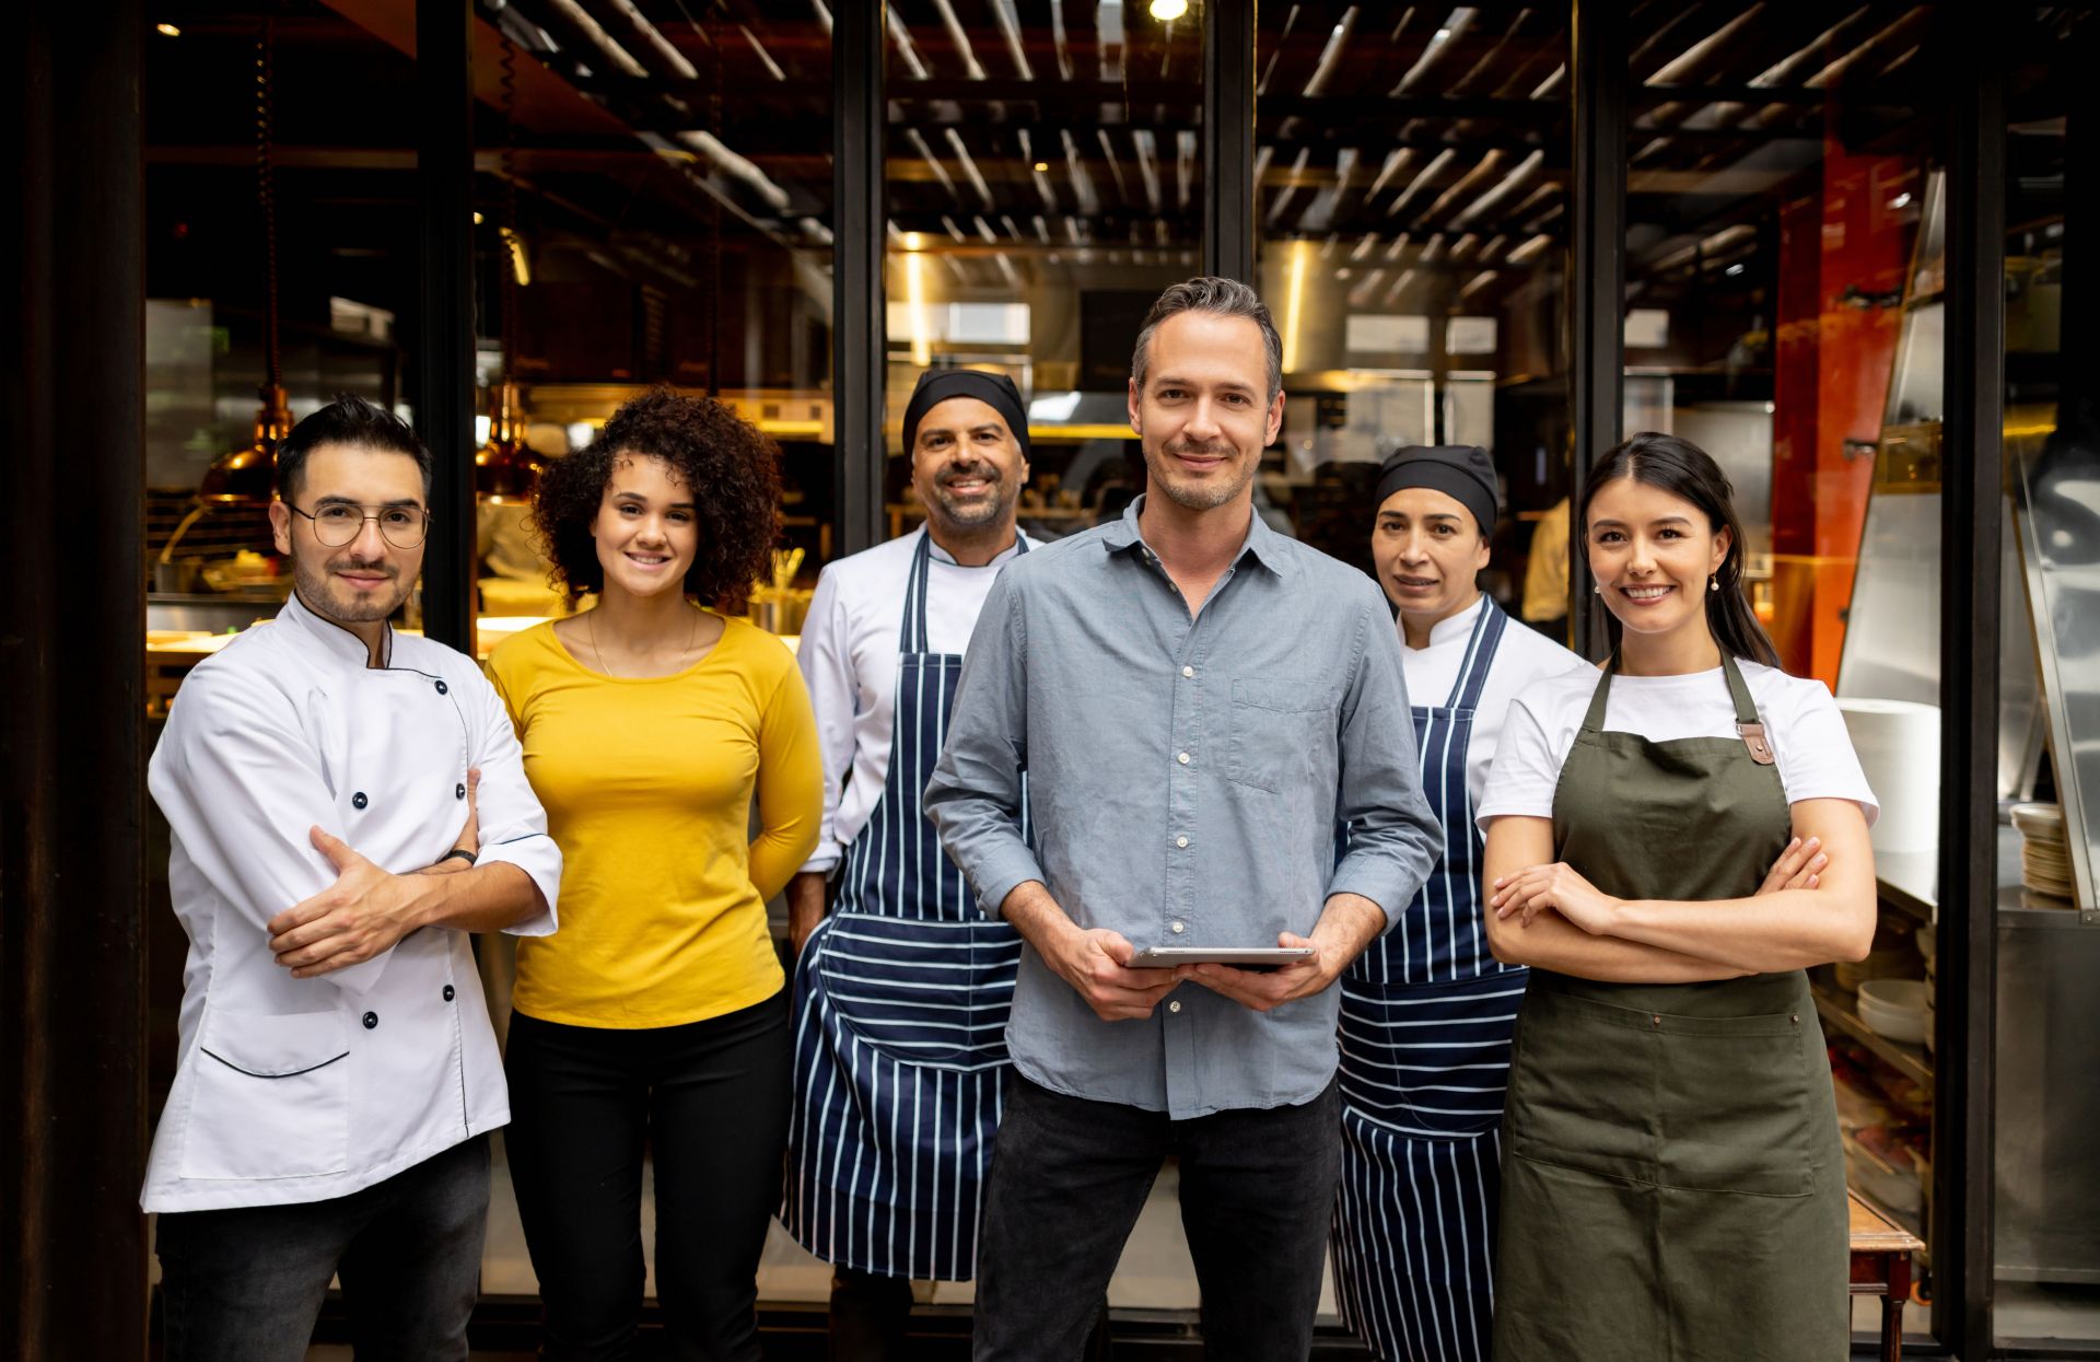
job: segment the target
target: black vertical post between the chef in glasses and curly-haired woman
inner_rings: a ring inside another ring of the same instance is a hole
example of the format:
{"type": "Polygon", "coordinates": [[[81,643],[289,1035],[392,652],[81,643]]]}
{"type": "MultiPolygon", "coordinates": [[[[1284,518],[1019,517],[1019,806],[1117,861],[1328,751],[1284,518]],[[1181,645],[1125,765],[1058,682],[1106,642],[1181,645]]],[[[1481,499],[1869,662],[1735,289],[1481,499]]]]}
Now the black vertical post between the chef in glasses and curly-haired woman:
{"type": "Polygon", "coordinates": [[[475,6],[416,4],[416,200],[422,219],[416,433],[430,446],[422,628],[475,647],[475,6]]]}

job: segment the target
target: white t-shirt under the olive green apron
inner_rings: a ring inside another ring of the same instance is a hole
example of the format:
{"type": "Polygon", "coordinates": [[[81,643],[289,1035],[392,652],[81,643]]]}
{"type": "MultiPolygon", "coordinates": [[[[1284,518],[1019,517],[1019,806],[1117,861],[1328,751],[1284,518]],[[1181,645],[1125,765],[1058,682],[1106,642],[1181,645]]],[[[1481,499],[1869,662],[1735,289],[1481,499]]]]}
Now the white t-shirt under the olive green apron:
{"type": "MultiPolygon", "coordinates": [[[[1743,683],[1764,721],[1787,803],[1850,799],[1871,828],[1882,807],[1867,788],[1867,773],[1858,767],[1844,715],[1838,713],[1829,687],[1756,662],[1737,666],[1743,668],[1743,683]]],[[[1495,767],[1487,778],[1487,792],[1474,816],[1483,828],[1491,818],[1506,813],[1552,818],[1560,767],[1575,746],[1575,734],[1581,731],[1590,698],[1602,677],[1604,673],[1592,666],[1548,677],[1516,696],[1495,752],[1495,767]]],[[[1611,681],[1604,729],[1638,734],[1648,742],[1737,738],[1735,700],[1728,698],[1728,681],[1718,666],[1684,677],[1621,675],[1611,681]]]]}

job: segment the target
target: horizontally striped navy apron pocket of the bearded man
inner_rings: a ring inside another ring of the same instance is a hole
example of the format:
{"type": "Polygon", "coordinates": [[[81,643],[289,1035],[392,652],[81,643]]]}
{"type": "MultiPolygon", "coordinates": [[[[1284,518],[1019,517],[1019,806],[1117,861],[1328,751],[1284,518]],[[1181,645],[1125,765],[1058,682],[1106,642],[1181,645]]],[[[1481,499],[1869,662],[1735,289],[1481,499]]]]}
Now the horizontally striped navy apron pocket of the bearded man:
{"type": "Polygon", "coordinates": [[[1021,933],[1006,923],[834,914],[817,984],[859,1040],[905,1064],[1006,1064],[1021,933]]]}

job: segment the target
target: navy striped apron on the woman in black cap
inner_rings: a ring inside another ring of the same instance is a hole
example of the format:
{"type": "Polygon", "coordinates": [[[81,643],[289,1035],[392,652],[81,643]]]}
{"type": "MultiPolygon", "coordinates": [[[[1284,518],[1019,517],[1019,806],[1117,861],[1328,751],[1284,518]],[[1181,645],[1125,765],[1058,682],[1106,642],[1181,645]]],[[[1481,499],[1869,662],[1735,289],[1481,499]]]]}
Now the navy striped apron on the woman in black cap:
{"type": "Polygon", "coordinates": [[[1480,601],[1443,706],[1413,706],[1445,858],[1405,919],[1342,975],[1342,1320],[1386,1362],[1489,1354],[1502,1099],[1522,967],[1480,927],[1480,830],[1466,748],[1506,616],[1480,601]]]}

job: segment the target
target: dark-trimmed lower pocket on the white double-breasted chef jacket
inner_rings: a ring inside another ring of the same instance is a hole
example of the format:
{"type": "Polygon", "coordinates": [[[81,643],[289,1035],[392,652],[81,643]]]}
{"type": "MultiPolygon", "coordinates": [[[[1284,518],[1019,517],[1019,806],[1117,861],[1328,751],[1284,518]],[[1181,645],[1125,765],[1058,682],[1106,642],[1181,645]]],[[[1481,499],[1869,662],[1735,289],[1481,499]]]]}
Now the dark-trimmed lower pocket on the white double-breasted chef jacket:
{"type": "Polygon", "coordinates": [[[340,1173],[351,1162],[349,1030],[340,1011],[208,1007],[191,1061],[183,1177],[340,1173]]]}

